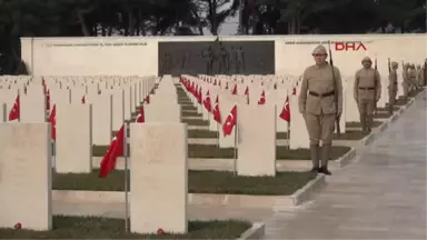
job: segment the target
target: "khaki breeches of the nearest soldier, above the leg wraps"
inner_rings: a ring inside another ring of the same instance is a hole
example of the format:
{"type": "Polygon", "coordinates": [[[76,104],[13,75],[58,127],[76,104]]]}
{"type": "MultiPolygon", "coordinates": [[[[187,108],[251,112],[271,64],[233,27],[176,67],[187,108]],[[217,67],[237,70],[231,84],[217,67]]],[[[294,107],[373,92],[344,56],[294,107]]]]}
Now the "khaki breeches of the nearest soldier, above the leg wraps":
{"type": "Polygon", "coordinates": [[[310,146],[319,146],[320,140],[324,146],[332,143],[336,114],[305,113],[304,119],[306,120],[310,146]]]}

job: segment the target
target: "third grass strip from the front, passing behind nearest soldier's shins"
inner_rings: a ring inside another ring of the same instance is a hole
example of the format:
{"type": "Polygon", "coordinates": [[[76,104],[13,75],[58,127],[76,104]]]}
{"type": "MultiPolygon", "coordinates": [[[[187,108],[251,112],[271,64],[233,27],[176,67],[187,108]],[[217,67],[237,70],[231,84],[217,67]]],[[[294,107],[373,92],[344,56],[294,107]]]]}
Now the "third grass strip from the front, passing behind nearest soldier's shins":
{"type": "MultiPolygon", "coordinates": [[[[92,156],[103,157],[107,152],[108,146],[93,146],[92,156]]],[[[330,152],[330,159],[337,160],[338,158],[350,151],[350,147],[345,146],[332,146],[330,152]]],[[[129,146],[128,146],[128,152],[129,146]]],[[[215,144],[188,144],[188,158],[203,158],[203,159],[234,159],[234,148],[218,148],[215,144]]],[[[276,147],[276,159],[279,160],[310,160],[309,149],[291,149],[289,150],[286,146],[276,147]]]]}

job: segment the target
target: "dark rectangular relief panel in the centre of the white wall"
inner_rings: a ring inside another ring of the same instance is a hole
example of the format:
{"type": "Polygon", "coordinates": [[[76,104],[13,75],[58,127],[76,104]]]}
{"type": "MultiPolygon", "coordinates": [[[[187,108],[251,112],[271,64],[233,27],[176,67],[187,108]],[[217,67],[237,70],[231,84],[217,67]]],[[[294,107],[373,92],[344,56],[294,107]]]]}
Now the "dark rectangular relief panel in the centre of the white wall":
{"type": "Polygon", "coordinates": [[[159,42],[162,74],[274,74],[274,41],[159,42]]]}

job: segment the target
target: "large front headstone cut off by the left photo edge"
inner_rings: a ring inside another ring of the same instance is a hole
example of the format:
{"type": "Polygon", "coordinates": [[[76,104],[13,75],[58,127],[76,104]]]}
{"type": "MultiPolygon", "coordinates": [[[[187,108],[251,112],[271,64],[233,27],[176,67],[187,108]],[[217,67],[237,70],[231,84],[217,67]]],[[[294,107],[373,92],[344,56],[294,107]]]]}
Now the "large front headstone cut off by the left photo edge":
{"type": "Polygon", "coordinates": [[[0,123],[0,228],[52,227],[49,123],[0,123]]]}

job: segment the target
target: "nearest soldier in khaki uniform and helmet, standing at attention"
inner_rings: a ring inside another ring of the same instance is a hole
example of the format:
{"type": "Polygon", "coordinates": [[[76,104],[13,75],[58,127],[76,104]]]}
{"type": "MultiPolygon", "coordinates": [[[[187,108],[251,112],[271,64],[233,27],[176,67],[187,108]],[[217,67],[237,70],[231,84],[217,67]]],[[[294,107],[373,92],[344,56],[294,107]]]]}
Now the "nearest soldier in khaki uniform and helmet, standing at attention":
{"type": "Polygon", "coordinates": [[[335,130],[335,121],[342,112],[341,74],[326,61],[328,53],[324,46],[317,46],[312,56],[316,64],[308,67],[302,74],[298,99],[299,112],[306,121],[310,138],[312,172],[330,174],[328,160],[335,130]],[[338,102],[336,102],[336,99],[338,102]],[[321,140],[321,151],[319,142],[321,140]],[[319,154],[321,166],[319,167],[319,154]]]}

